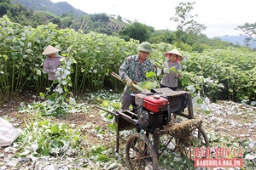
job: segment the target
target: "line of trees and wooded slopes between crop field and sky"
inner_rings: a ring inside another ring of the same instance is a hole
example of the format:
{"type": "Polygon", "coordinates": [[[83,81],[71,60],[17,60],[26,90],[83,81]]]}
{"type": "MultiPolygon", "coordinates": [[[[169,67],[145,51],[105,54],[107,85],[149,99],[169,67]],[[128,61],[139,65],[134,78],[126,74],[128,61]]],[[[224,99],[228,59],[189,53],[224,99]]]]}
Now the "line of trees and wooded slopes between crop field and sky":
{"type": "MultiPolygon", "coordinates": [[[[154,27],[147,26],[137,21],[125,20],[120,15],[108,14],[88,14],[77,17],[74,14],[62,14],[61,16],[45,11],[34,11],[28,9],[19,3],[11,3],[10,0],[0,0],[0,16],[7,14],[13,22],[21,26],[37,27],[52,22],[60,29],[72,28],[76,31],[85,24],[84,33],[95,31],[97,33],[115,36],[129,41],[131,38],[140,42],[148,41],[151,43],[166,42],[171,43],[177,48],[185,51],[202,52],[209,48],[230,48],[239,46],[231,42],[223,42],[219,38],[210,39],[201,32],[207,29],[207,26],[201,25],[195,21],[196,15],[189,14],[193,10],[195,3],[179,3],[175,8],[176,14],[170,20],[177,22],[177,30],[154,30],[154,27]]],[[[246,23],[245,26],[238,26],[246,35],[245,44],[248,47],[249,42],[255,35],[255,24],[246,23]],[[249,30],[249,32],[248,32],[249,30]]]]}

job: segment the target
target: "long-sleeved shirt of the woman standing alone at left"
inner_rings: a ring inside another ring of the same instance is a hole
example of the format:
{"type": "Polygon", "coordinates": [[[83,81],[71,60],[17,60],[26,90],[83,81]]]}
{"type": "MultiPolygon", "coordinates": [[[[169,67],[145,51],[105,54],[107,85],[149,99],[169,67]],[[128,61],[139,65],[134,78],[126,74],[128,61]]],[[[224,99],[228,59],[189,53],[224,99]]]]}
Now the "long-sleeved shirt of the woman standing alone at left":
{"type": "Polygon", "coordinates": [[[48,74],[48,80],[54,81],[55,80],[55,69],[59,67],[61,64],[62,57],[60,55],[55,55],[55,58],[48,57],[44,60],[44,72],[48,74]]]}

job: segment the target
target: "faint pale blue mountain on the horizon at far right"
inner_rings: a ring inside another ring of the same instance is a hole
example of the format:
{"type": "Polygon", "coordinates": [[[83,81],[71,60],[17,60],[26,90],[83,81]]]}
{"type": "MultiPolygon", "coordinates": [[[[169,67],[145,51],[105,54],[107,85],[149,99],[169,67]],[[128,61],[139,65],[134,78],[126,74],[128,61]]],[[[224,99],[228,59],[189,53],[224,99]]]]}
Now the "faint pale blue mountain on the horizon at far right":
{"type": "MultiPolygon", "coordinates": [[[[245,36],[229,36],[229,35],[225,35],[225,36],[222,36],[222,37],[217,37],[219,39],[221,39],[222,41],[224,42],[232,42],[236,45],[241,45],[241,46],[245,46],[244,44],[244,40],[245,40],[245,36]]],[[[254,39],[256,40],[256,39],[254,39]]],[[[256,48],[256,42],[255,41],[251,41],[249,42],[250,44],[250,48],[256,48]]]]}

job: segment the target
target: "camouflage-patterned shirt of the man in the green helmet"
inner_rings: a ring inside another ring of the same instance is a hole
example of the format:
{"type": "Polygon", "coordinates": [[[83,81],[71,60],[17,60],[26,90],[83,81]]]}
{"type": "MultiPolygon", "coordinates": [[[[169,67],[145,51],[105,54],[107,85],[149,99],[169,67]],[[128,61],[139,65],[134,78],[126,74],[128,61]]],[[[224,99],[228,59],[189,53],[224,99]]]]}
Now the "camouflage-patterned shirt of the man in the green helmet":
{"type": "MultiPolygon", "coordinates": [[[[154,64],[147,58],[142,64],[137,55],[127,57],[124,63],[119,68],[119,76],[125,80],[130,77],[134,82],[144,82],[147,80],[146,72],[155,71],[154,64]]],[[[131,87],[125,86],[125,92],[128,94],[139,93],[137,90],[131,90],[131,87]]]]}

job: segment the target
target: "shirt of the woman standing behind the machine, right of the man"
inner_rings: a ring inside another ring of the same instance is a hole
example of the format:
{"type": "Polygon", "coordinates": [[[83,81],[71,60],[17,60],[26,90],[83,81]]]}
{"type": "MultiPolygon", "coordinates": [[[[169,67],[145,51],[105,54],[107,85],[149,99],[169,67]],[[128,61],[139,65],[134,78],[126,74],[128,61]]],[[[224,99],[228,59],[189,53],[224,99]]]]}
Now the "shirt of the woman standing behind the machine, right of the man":
{"type": "Polygon", "coordinates": [[[161,84],[170,87],[170,88],[176,88],[177,87],[177,71],[181,71],[181,65],[175,61],[174,63],[170,63],[169,61],[165,61],[163,66],[172,68],[175,67],[176,72],[170,71],[170,73],[164,74],[162,79],[161,79],[161,84]]]}

